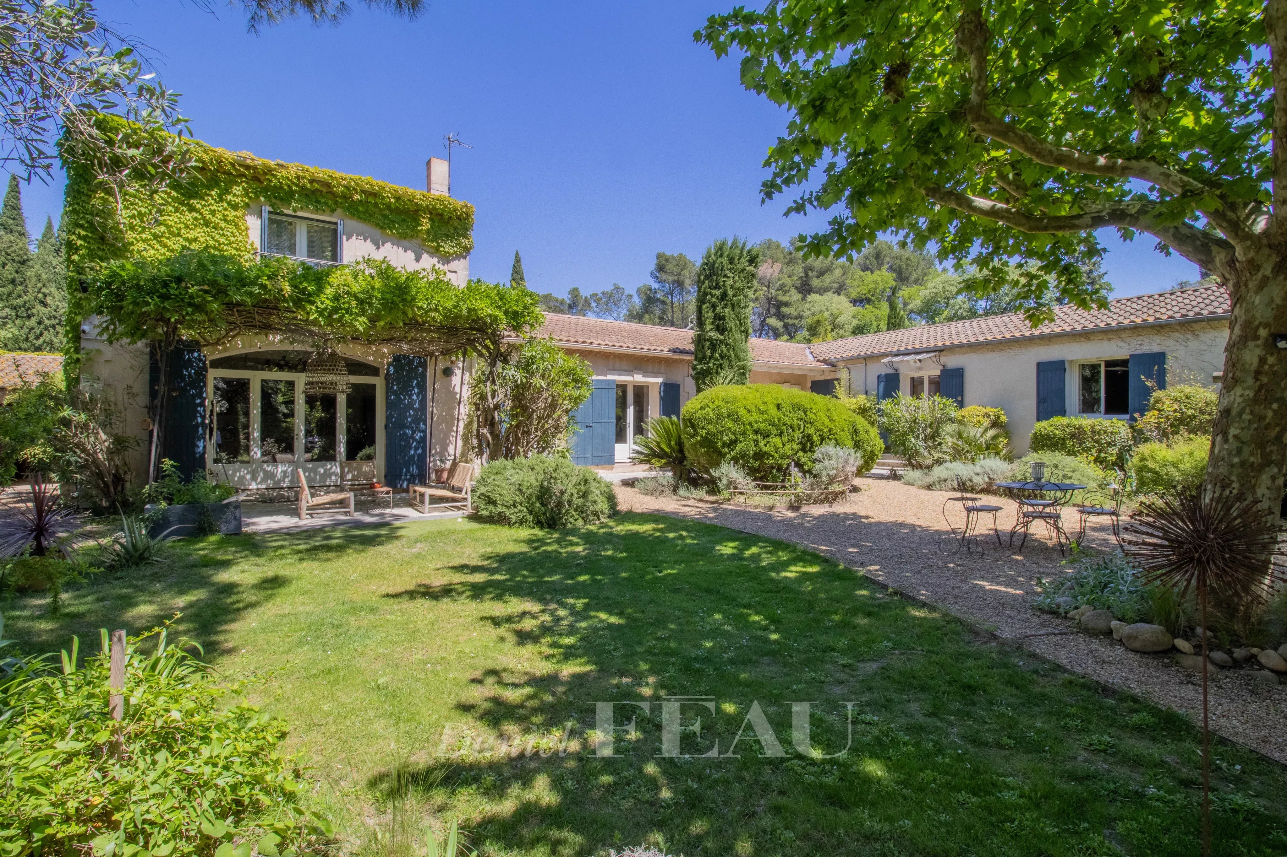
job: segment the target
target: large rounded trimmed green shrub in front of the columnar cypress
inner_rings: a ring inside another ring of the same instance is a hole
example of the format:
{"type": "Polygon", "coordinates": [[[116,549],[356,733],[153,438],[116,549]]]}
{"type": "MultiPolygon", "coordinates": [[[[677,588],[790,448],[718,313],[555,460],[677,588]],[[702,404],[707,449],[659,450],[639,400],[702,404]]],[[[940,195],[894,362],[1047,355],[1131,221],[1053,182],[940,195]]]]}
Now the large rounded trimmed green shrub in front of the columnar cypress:
{"type": "Polygon", "coordinates": [[[709,473],[734,461],[757,479],[782,477],[792,464],[813,470],[819,447],[856,450],[860,473],[880,457],[875,428],[830,396],[772,384],[712,387],[683,406],[683,447],[709,473]]]}

